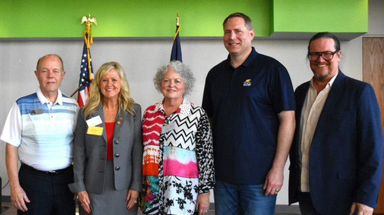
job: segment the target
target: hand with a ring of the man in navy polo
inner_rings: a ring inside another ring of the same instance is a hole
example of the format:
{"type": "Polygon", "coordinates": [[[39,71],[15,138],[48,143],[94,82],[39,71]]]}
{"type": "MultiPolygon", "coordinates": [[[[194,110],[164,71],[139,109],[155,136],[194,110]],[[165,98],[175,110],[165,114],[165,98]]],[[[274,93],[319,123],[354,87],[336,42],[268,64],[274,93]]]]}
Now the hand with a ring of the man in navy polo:
{"type": "Polygon", "coordinates": [[[263,189],[265,190],[264,196],[277,195],[283,186],[284,169],[278,170],[271,168],[265,178],[263,189]]]}

